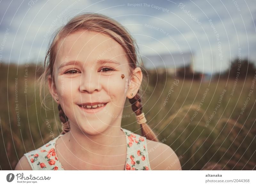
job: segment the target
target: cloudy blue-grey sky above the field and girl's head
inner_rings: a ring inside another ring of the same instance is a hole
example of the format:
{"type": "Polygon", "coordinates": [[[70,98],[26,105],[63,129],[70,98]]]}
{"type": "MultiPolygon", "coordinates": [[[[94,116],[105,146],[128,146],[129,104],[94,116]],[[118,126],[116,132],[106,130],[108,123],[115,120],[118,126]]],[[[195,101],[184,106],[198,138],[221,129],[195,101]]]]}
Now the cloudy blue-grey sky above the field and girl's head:
{"type": "Polygon", "coordinates": [[[0,64],[42,63],[54,31],[83,12],[120,22],[142,56],[190,52],[194,70],[209,74],[240,55],[256,63],[255,0],[2,0],[0,64]]]}

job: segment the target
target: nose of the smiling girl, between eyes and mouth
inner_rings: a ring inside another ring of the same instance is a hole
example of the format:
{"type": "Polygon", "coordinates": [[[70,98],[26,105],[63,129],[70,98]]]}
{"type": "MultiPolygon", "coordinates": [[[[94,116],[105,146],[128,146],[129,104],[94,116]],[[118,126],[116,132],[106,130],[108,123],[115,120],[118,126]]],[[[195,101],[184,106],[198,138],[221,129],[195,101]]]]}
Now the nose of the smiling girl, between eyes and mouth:
{"type": "Polygon", "coordinates": [[[101,89],[100,76],[97,72],[87,71],[82,72],[79,90],[80,92],[93,93],[101,89]]]}

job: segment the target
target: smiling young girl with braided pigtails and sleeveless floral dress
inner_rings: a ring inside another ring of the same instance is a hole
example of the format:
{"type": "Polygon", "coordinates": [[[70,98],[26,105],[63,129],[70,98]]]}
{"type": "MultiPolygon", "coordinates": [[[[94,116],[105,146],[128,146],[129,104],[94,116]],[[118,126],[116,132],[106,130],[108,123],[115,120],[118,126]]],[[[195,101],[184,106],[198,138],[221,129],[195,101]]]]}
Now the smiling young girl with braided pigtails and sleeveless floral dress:
{"type": "Polygon", "coordinates": [[[15,170],[181,170],[175,152],[146,123],[134,43],[101,14],[80,14],[60,28],[41,80],[58,104],[62,133],[24,154],[15,170]],[[126,98],[142,136],[121,128],[126,98]]]}

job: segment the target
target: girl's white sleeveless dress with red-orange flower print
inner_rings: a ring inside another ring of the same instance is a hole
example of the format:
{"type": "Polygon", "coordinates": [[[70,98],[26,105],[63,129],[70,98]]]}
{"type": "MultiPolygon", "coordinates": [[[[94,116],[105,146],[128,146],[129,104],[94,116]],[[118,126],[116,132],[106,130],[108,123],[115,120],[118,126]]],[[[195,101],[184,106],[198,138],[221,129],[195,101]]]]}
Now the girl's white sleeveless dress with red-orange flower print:
{"type": "MultiPolygon", "coordinates": [[[[124,170],[151,170],[146,137],[121,128],[126,137],[127,151],[124,170]]],[[[62,136],[62,135],[60,135],[62,136]]],[[[56,137],[42,147],[24,154],[32,170],[64,170],[56,154],[56,137]]]]}

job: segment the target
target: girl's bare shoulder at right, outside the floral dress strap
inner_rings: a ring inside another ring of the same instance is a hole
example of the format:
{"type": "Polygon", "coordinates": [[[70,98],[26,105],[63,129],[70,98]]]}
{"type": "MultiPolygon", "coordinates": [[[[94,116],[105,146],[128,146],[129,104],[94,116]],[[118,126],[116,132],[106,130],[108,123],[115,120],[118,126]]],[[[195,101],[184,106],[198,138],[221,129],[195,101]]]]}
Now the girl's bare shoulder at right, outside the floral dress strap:
{"type": "Polygon", "coordinates": [[[181,170],[180,158],[168,145],[147,139],[147,150],[152,170],[181,170]]]}

